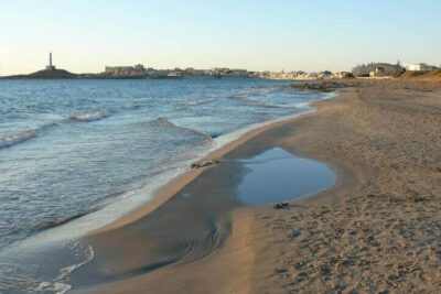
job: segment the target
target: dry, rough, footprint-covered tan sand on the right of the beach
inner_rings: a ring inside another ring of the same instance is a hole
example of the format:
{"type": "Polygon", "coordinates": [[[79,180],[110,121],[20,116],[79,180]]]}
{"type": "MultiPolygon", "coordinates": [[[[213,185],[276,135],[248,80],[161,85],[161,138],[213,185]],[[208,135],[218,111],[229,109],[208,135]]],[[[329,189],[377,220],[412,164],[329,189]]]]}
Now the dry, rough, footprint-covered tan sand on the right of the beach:
{"type": "Polygon", "coordinates": [[[440,84],[378,81],[322,105],[287,140],[358,183],[324,195],[342,202],[259,214],[271,241],[252,292],[440,293],[440,84]]]}

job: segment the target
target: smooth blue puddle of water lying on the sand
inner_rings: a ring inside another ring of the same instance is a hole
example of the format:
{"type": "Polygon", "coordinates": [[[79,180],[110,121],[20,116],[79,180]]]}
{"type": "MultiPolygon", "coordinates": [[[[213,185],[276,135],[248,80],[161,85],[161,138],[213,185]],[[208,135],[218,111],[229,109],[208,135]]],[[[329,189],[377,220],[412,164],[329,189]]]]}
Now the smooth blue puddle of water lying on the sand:
{"type": "Polygon", "coordinates": [[[331,186],[334,172],[325,164],[273,148],[247,160],[239,160],[248,173],[238,186],[248,205],[271,204],[300,198],[331,186]]]}

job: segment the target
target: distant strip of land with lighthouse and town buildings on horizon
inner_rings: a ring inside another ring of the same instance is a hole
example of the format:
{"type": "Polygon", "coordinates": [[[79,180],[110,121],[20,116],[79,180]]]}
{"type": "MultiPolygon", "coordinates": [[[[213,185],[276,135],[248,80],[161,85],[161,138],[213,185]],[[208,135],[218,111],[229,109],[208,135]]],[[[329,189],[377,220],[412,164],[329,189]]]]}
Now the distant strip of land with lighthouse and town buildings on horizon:
{"type": "Polygon", "coordinates": [[[266,78],[266,79],[331,79],[331,78],[390,78],[398,77],[405,72],[430,72],[439,67],[426,63],[397,64],[369,63],[355,66],[352,72],[332,73],[330,70],[306,73],[303,70],[292,72],[249,72],[247,69],[234,69],[215,67],[212,69],[195,69],[193,67],[173,69],[155,69],[144,67],[142,64],[133,66],[106,66],[103,73],[97,74],[73,74],[65,69],[57,69],[52,63],[50,53],[49,65],[45,69],[29,75],[3,76],[0,78],[103,78],[103,79],[180,79],[180,78],[266,78]]]}

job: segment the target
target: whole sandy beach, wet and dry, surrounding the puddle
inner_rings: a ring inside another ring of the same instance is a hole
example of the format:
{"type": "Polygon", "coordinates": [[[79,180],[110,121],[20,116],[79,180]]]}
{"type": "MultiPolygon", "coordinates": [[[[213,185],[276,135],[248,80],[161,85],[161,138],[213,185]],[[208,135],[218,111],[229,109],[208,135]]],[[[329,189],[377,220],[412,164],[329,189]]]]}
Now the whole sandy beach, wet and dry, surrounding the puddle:
{"type": "Polygon", "coordinates": [[[345,81],[314,107],[247,133],[208,156],[220,164],[84,238],[96,253],[74,290],[440,292],[441,84],[345,81]],[[282,209],[241,205],[235,160],[275,146],[326,163],[336,183],[282,209]]]}

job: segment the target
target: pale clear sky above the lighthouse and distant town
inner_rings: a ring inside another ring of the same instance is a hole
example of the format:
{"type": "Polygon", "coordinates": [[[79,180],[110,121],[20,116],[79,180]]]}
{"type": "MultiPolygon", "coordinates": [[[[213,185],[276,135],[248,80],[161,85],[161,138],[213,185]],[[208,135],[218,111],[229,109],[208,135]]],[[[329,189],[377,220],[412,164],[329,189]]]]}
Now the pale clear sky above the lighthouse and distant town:
{"type": "Polygon", "coordinates": [[[441,0],[0,0],[0,75],[47,64],[348,70],[441,63],[441,0]]]}

